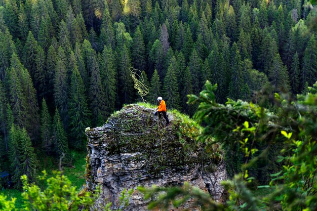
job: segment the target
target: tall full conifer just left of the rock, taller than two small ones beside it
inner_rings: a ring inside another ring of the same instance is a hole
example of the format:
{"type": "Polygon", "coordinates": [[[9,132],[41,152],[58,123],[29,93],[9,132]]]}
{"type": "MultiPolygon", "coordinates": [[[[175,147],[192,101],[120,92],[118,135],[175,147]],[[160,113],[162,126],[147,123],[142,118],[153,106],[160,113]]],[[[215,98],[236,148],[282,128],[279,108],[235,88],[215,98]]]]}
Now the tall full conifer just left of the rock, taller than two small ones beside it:
{"type": "MultiPolygon", "coordinates": [[[[73,52],[71,52],[70,57],[75,60],[73,52]]],[[[84,82],[76,65],[72,67],[68,103],[69,135],[73,138],[73,145],[82,148],[85,146],[85,128],[90,125],[90,111],[84,82]]]]}

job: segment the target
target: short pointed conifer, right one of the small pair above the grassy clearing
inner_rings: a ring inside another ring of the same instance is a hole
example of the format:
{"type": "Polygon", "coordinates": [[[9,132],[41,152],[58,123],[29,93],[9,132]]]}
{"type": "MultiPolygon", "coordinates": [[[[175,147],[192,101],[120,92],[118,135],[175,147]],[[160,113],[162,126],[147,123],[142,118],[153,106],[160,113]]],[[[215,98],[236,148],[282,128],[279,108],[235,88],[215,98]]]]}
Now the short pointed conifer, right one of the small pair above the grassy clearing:
{"type": "Polygon", "coordinates": [[[61,157],[63,153],[67,154],[67,137],[64,131],[63,122],[61,121],[61,117],[59,115],[57,108],[55,109],[55,115],[53,120],[53,144],[58,158],[61,157]]]}

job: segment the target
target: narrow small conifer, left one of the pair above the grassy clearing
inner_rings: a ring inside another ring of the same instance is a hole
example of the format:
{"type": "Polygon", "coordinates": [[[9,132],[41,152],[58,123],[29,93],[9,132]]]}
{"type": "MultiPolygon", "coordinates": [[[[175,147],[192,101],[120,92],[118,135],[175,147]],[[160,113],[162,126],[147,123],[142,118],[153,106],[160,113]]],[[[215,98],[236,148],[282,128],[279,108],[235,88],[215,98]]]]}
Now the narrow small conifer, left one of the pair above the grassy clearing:
{"type": "Polygon", "coordinates": [[[41,140],[42,148],[47,154],[50,154],[52,151],[52,118],[44,98],[41,109],[41,140]]]}

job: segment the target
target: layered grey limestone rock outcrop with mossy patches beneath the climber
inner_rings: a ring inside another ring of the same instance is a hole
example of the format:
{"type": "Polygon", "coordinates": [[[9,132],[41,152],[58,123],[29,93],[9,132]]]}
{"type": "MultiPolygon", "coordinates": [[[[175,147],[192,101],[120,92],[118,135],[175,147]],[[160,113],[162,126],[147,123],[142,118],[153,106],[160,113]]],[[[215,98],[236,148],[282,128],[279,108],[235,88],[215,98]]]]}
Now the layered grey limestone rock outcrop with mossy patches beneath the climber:
{"type": "MultiPolygon", "coordinates": [[[[171,123],[158,121],[155,109],[125,106],[103,126],[86,131],[88,155],[86,183],[101,186],[96,207],[112,202],[118,208],[120,193],[138,186],[179,186],[189,182],[220,200],[220,181],[227,175],[221,156],[205,152],[194,137],[199,128],[188,117],[168,112],[171,123]],[[204,155],[204,156],[202,156],[204,155]]],[[[147,210],[142,193],[135,191],[125,210],[147,210]]]]}

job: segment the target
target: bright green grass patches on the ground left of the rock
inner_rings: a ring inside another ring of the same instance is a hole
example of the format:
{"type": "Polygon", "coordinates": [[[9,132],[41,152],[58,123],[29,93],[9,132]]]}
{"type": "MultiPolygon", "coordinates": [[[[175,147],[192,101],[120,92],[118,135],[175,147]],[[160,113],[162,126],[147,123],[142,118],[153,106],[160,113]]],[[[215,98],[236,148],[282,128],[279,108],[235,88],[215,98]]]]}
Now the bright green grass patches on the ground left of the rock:
{"type": "MultiPolygon", "coordinates": [[[[71,181],[72,186],[75,186],[79,192],[85,184],[87,152],[71,151],[70,153],[73,159],[73,166],[64,167],[63,171],[64,175],[67,176],[68,179],[71,181]]],[[[46,170],[48,178],[53,176],[54,170],[58,170],[58,164],[54,162],[53,157],[45,157],[45,160],[41,161],[41,164],[41,169],[46,170]]],[[[39,172],[38,175],[42,175],[42,173],[39,172]]],[[[5,191],[0,190],[0,193],[4,193],[8,197],[8,199],[16,198],[16,208],[20,209],[23,207],[23,198],[21,196],[20,190],[6,189],[5,191]]]]}

